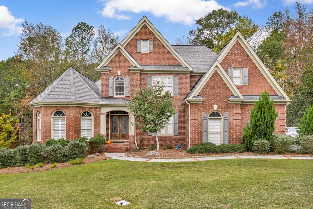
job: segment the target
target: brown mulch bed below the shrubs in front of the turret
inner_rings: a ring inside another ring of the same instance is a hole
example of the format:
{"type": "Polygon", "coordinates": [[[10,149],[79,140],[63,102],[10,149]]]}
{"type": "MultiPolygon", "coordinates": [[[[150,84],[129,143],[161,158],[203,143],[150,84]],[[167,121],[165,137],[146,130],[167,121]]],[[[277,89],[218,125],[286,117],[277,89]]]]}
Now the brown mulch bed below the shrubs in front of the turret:
{"type": "MultiPolygon", "coordinates": [[[[105,153],[99,153],[99,156],[85,158],[83,164],[97,162],[97,161],[106,160],[106,159],[110,159],[110,158],[105,156],[105,153]]],[[[73,166],[69,164],[69,162],[66,162],[66,163],[57,163],[57,166],[55,168],[50,168],[52,164],[53,163],[44,164],[44,167],[41,167],[41,168],[38,168],[36,165],[34,165],[33,170],[29,170],[28,168],[25,168],[25,166],[2,168],[0,169],[0,175],[1,174],[13,174],[13,173],[39,172],[39,171],[53,170],[53,169],[73,166]]]]}

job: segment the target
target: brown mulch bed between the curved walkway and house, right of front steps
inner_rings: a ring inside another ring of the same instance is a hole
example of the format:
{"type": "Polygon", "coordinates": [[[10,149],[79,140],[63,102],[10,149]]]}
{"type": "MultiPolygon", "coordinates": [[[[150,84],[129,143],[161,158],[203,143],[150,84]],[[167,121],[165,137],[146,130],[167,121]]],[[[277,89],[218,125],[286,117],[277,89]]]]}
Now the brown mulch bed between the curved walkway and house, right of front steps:
{"type": "MultiPolygon", "coordinates": [[[[156,150],[154,150],[156,151],[156,150]]],[[[147,155],[148,152],[150,152],[147,149],[139,150],[139,152],[132,152],[132,151],[127,151],[126,155],[132,155],[132,156],[137,156],[137,157],[146,157],[146,158],[154,158],[154,157],[178,157],[178,158],[188,158],[188,157],[197,157],[197,156],[215,156],[215,155],[255,155],[254,152],[244,152],[244,153],[239,153],[239,152],[232,152],[232,153],[211,153],[211,154],[190,154],[190,153],[185,153],[187,151],[186,148],[182,149],[160,149],[157,151],[160,153],[160,155],[147,155]]],[[[269,152],[263,155],[277,155],[274,152],[269,152]]],[[[313,154],[299,154],[299,153],[284,153],[280,155],[301,155],[301,156],[313,156],[313,154]]]]}

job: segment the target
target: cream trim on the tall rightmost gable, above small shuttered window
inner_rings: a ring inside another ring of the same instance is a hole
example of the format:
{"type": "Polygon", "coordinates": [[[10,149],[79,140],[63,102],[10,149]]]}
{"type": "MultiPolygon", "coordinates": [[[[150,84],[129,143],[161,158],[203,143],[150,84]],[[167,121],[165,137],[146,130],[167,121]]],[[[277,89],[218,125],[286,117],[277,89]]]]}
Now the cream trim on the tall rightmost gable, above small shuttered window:
{"type": "Polygon", "coordinates": [[[258,69],[261,71],[265,79],[269,82],[269,84],[273,87],[273,89],[276,91],[276,93],[281,96],[285,97],[286,100],[290,100],[290,98],[287,96],[285,91],[281,88],[281,86],[278,84],[278,82],[275,80],[275,78],[272,76],[272,74],[269,72],[269,70],[265,67],[264,63],[260,60],[258,55],[254,52],[252,47],[249,45],[249,43],[244,39],[242,34],[237,31],[236,34],[233,36],[233,38],[229,41],[226,48],[223,50],[223,52],[218,57],[218,62],[221,63],[225,56],[228,54],[228,52],[231,50],[233,45],[238,41],[241,46],[244,48],[244,50],[247,52],[251,60],[253,60],[254,64],[258,67],[258,69]]]}

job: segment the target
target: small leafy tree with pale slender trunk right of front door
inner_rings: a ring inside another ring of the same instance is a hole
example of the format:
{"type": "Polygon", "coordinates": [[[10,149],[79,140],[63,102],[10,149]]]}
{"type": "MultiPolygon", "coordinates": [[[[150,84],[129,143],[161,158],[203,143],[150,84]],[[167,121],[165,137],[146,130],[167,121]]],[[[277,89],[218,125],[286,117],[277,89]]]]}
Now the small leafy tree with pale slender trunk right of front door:
{"type": "Polygon", "coordinates": [[[153,133],[156,137],[156,150],[159,150],[157,132],[176,114],[172,107],[174,99],[168,91],[163,92],[163,86],[157,83],[150,88],[142,88],[131,93],[133,102],[127,108],[135,116],[132,125],[140,126],[141,131],[153,133]]]}

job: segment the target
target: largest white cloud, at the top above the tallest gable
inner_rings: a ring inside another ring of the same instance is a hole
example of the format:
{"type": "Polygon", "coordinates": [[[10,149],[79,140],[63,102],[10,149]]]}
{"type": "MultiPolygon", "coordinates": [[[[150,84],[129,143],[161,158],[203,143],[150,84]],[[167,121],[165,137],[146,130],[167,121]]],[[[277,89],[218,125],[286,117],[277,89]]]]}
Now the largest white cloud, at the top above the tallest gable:
{"type": "Polygon", "coordinates": [[[101,11],[104,17],[130,19],[122,12],[152,13],[155,17],[165,17],[174,23],[191,25],[195,20],[212,10],[224,8],[215,0],[102,0],[105,7],[101,11]]]}

